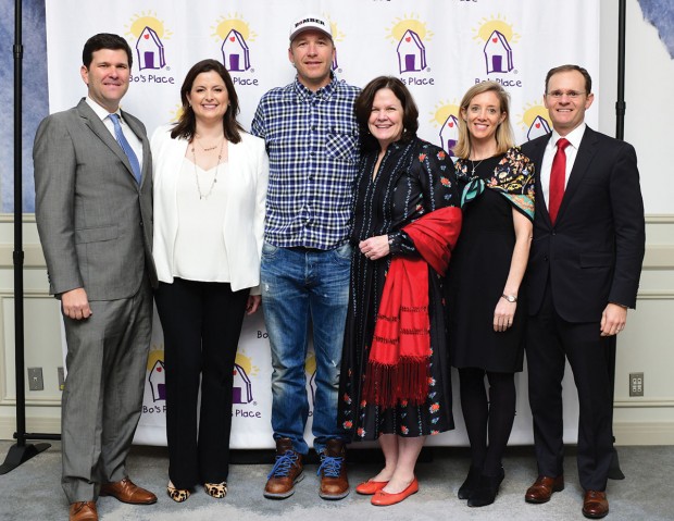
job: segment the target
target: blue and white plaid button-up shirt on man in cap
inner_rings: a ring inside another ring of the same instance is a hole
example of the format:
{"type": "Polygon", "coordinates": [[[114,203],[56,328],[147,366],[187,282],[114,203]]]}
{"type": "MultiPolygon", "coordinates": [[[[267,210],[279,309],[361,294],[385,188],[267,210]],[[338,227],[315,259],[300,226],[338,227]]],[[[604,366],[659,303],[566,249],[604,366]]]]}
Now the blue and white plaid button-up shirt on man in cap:
{"type": "Polygon", "coordinates": [[[315,92],[296,79],[260,100],[251,133],[266,141],[270,157],[267,243],[328,250],[348,240],[359,92],[333,76],[315,92]]]}

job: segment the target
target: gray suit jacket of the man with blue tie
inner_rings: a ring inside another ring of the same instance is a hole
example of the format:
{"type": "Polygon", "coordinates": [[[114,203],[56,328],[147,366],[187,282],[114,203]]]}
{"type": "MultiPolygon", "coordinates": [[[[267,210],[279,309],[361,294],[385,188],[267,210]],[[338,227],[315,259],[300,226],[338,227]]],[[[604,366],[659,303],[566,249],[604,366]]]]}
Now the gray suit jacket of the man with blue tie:
{"type": "Polygon", "coordinates": [[[35,136],[35,213],[53,295],[84,287],[90,301],[129,298],[146,273],[157,286],[150,147],[142,123],[122,114],[142,141],[140,186],[84,99],[45,119],[35,136]]]}

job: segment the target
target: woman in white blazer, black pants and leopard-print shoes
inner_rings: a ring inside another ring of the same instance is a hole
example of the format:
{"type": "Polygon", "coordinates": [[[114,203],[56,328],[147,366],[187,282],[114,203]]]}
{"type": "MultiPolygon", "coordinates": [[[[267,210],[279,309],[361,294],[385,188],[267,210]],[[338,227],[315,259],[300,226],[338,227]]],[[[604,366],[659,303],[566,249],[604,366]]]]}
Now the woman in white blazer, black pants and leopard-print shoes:
{"type": "Polygon", "coordinates": [[[180,98],[178,122],[151,140],[166,492],[175,501],[198,484],[213,497],[227,493],[234,361],[244,315],[260,306],[269,176],[264,141],[237,122],[238,98],[220,62],[194,65],[180,98]]]}

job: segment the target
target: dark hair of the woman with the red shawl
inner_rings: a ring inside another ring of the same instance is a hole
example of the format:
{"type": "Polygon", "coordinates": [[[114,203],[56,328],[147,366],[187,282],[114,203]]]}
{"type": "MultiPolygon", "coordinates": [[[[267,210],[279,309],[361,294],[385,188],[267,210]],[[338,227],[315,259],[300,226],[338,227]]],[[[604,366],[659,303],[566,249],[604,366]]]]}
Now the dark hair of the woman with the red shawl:
{"type": "Polygon", "coordinates": [[[365,88],[355,98],[353,110],[355,111],[355,121],[361,136],[361,152],[369,152],[378,149],[379,145],[376,138],[370,134],[367,121],[372,112],[372,103],[377,91],[387,88],[390,89],[396,98],[400,100],[402,106],[402,136],[400,140],[409,141],[416,137],[419,129],[419,109],[412,94],[404,84],[394,76],[378,76],[365,85],[365,88]]]}

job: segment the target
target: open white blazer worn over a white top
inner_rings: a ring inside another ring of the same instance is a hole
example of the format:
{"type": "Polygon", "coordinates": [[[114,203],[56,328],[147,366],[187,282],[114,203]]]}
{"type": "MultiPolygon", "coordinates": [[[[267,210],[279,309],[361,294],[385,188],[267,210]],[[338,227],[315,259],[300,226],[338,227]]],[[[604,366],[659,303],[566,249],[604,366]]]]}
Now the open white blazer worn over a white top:
{"type": "MultiPolygon", "coordinates": [[[[159,127],[151,139],[154,194],[152,255],[161,282],[173,283],[173,259],[178,233],[176,185],[188,141],[171,138],[174,125],[159,127]]],[[[264,212],[269,159],[264,140],[241,132],[241,141],[228,144],[225,219],[222,233],[227,251],[232,290],[251,287],[260,295],[260,257],[264,236],[264,212]]]]}

